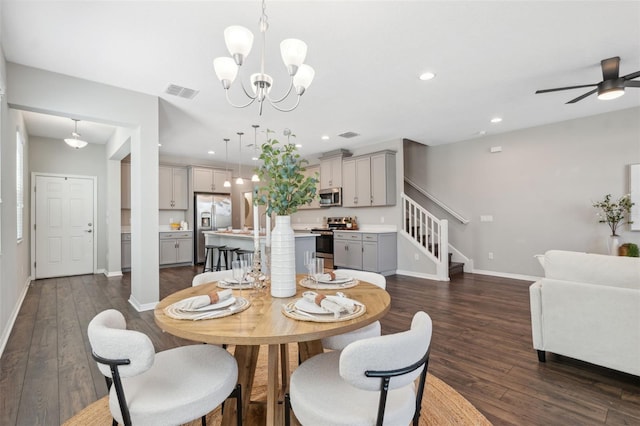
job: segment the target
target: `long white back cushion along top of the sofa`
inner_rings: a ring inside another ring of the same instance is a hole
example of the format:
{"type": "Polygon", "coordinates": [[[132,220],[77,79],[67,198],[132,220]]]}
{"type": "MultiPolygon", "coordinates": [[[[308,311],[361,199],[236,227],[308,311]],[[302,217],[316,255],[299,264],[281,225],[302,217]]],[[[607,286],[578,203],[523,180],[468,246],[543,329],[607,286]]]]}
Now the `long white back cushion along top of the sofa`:
{"type": "Polygon", "coordinates": [[[640,289],[637,257],[549,250],[543,264],[546,278],[640,289]]]}

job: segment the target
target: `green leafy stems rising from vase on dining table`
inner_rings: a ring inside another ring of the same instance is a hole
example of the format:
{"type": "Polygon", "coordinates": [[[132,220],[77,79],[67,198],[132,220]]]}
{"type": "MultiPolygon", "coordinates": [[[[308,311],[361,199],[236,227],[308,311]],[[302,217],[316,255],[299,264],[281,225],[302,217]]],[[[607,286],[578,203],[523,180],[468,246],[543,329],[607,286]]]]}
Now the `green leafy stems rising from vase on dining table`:
{"type": "MultiPolygon", "coordinates": [[[[267,137],[270,132],[267,130],[267,137]]],[[[288,216],[313,201],[318,179],[305,176],[309,162],[300,158],[295,144],[281,145],[276,139],[268,139],[259,158],[262,165],[258,177],[262,185],[254,188],[253,195],[259,205],[267,206],[268,215],[288,216]]]]}

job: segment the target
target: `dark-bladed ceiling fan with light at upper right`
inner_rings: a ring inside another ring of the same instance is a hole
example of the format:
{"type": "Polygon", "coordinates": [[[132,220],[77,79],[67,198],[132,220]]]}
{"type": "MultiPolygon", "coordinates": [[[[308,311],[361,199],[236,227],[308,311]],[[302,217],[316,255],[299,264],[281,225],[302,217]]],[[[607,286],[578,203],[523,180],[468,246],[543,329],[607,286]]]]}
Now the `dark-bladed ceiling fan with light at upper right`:
{"type": "Polygon", "coordinates": [[[640,71],[636,71],[634,73],[619,77],[619,71],[620,71],[619,56],[614,56],[613,58],[609,58],[609,59],[603,59],[602,61],[600,61],[600,66],[602,67],[602,81],[599,83],[581,84],[579,86],[569,86],[569,87],[558,87],[556,89],[536,90],[536,94],[547,93],[547,92],[557,92],[559,90],[579,89],[582,87],[597,86],[595,89],[585,93],[584,95],[580,95],[577,98],[571,99],[569,102],[567,102],[568,104],[573,104],[583,100],[587,96],[593,95],[596,92],[598,93],[598,99],[609,100],[609,99],[615,99],[624,95],[625,87],[640,87],[640,81],[631,81],[634,78],[640,77],[640,71]]]}

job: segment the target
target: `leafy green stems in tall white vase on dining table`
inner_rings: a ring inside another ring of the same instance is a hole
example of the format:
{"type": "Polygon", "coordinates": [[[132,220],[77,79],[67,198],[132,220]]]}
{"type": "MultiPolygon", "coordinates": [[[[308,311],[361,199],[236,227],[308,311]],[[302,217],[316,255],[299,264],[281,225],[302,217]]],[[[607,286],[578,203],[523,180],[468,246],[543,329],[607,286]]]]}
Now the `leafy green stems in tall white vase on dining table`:
{"type": "Polygon", "coordinates": [[[300,158],[292,143],[281,145],[278,140],[269,139],[262,145],[259,158],[261,185],[254,189],[254,200],[267,206],[269,217],[276,214],[271,233],[271,295],[291,297],[296,293],[296,267],[290,215],[313,200],[318,179],[305,176],[308,161],[300,158]]]}

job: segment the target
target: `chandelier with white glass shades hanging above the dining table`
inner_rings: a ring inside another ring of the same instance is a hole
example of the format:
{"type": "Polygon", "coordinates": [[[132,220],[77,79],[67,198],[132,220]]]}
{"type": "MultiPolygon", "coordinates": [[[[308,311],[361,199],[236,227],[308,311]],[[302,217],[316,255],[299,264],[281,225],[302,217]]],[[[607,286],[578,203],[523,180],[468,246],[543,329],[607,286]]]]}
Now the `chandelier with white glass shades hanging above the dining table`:
{"type": "Polygon", "coordinates": [[[222,83],[222,88],[225,91],[227,102],[235,108],[245,108],[254,103],[256,100],[259,105],[259,114],[262,115],[262,106],[266,100],[278,111],[289,112],[296,109],[300,103],[300,97],[304,94],[305,90],[309,87],[313,81],[315,71],[309,65],[304,64],[304,59],[307,56],[307,45],[302,40],[289,38],[283,40],[280,43],[280,54],[282,55],[282,61],[287,67],[287,71],[290,76],[289,89],[281,98],[272,98],[270,96],[271,86],[273,85],[273,78],[269,74],[264,72],[264,52],[266,48],[266,32],[269,29],[269,23],[267,20],[267,14],[265,13],[266,5],[262,0],[262,16],[259,21],[260,32],[262,33],[262,54],[260,60],[260,72],[251,75],[249,80],[251,81],[251,92],[249,92],[244,83],[241,82],[242,90],[244,94],[249,98],[249,101],[244,105],[236,105],[231,99],[229,99],[229,87],[236,79],[238,75],[238,69],[244,63],[244,59],[249,55],[251,47],[253,45],[253,33],[247,28],[233,25],[227,27],[224,30],[224,41],[227,45],[227,49],[232,58],[218,57],[213,60],[213,67],[216,72],[216,76],[222,83]],[[287,99],[291,94],[291,91],[295,89],[297,99],[295,104],[291,108],[283,108],[280,104],[287,99]]]}

